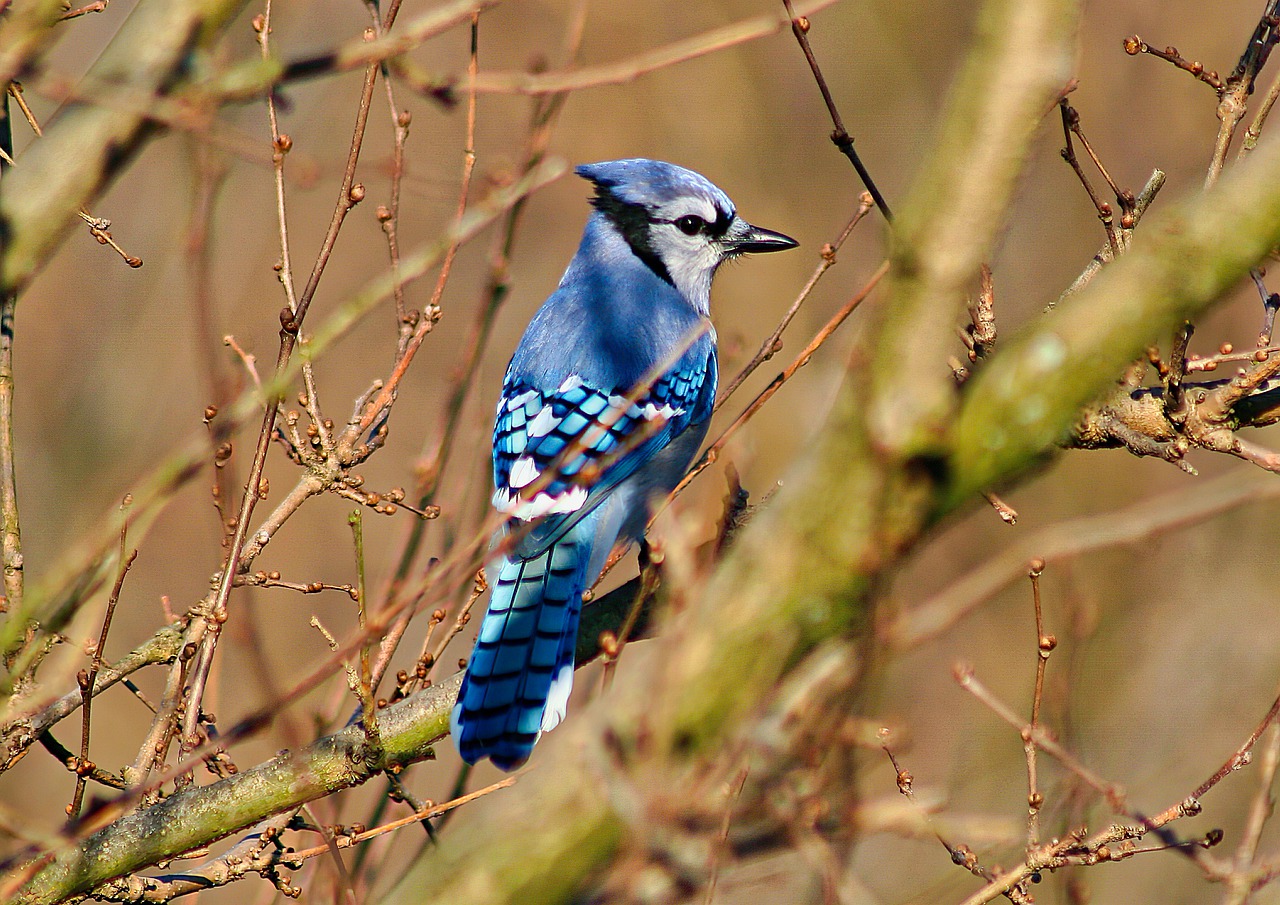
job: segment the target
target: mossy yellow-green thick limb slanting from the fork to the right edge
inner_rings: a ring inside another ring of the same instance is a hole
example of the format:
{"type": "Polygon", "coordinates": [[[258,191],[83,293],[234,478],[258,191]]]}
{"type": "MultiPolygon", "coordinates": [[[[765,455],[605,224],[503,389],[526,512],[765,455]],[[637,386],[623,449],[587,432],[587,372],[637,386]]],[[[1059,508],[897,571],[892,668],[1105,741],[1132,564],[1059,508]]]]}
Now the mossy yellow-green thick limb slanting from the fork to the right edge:
{"type": "Polygon", "coordinates": [[[1280,145],[1148,214],[1126,255],[1006,342],[965,385],[947,506],[1050,452],[1153,338],[1217,301],[1277,242],[1280,145]]]}

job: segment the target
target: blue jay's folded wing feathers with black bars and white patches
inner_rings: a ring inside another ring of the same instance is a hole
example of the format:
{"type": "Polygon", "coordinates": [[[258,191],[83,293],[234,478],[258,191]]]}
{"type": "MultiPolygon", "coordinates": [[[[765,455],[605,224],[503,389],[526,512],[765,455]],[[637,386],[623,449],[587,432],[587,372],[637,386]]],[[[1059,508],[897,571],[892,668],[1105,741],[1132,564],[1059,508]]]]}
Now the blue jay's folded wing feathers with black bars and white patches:
{"type": "Polygon", "coordinates": [[[540,554],[675,436],[709,417],[714,353],[686,356],[634,403],[630,392],[570,374],[548,393],[508,372],[493,433],[493,502],[513,518],[540,520],[520,556],[540,554]],[[580,452],[561,462],[571,445],[580,452]],[[599,471],[579,477],[591,465],[599,471]],[[548,469],[554,474],[540,490],[524,492],[545,481],[548,469]]]}

